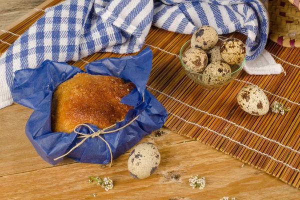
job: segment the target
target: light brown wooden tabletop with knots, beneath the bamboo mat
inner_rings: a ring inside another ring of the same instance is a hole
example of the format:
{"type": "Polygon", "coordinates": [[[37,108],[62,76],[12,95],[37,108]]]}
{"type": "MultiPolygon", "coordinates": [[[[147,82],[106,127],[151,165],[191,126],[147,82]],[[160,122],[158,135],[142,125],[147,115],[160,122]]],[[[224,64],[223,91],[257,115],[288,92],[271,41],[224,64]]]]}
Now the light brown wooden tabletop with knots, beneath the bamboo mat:
{"type": "MultiPolygon", "coordinates": [[[[42,1],[0,0],[0,28],[42,1]]],[[[142,140],[153,142],[161,152],[159,167],[143,180],[133,179],[127,171],[129,151],[115,159],[111,168],[69,158],[52,166],[25,136],[31,112],[18,104],[0,109],[0,199],[300,199],[298,189],[167,129],[161,136],[152,133],[142,140]],[[196,174],[206,178],[202,190],[189,186],[189,177],[196,174]],[[114,188],[106,192],[88,183],[89,175],[109,176],[114,188]]]]}

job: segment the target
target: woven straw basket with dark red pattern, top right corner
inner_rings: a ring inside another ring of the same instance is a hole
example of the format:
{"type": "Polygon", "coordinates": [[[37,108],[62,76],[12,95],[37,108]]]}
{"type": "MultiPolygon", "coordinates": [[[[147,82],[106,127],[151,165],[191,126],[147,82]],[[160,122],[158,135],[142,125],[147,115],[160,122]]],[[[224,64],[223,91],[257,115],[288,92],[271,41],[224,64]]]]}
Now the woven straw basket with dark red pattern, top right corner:
{"type": "Polygon", "coordinates": [[[269,0],[269,38],[285,47],[300,47],[299,0],[289,1],[269,0]]]}

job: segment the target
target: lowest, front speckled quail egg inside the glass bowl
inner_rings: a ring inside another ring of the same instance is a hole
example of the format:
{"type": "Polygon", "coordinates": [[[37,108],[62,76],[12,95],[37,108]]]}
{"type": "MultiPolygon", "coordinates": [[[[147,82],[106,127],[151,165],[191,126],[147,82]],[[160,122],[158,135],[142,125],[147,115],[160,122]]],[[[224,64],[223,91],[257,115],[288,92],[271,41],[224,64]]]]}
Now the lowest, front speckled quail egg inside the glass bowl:
{"type": "Polygon", "coordinates": [[[203,71],[202,81],[208,86],[220,86],[231,78],[230,75],[226,75],[227,73],[231,73],[231,68],[227,63],[211,62],[203,71]]]}

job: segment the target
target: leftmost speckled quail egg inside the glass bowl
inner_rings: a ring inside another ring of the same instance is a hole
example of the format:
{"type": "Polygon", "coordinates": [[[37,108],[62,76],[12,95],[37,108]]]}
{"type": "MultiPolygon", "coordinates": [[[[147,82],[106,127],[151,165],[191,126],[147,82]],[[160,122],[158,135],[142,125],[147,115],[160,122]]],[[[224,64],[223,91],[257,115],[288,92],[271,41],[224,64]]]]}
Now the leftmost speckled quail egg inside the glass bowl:
{"type": "Polygon", "coordinates": [[[202,72],[208,62],[207,55],[200,48],[189,48],[181,56],[182,62],[195,72],[202,72]]]}

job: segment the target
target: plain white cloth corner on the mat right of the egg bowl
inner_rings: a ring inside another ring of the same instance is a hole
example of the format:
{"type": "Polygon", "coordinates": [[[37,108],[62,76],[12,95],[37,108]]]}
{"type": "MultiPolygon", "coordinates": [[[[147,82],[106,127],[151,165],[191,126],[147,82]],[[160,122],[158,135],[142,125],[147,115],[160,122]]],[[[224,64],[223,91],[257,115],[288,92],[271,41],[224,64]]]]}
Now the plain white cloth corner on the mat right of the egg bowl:
{"type": "Polygon", "coordinates": [[[276,63],[272,55],[265,49],[255,59],[246,60],[243,69],[253,75],[270,75],[284,72],[281,64],[276,63]]]}

